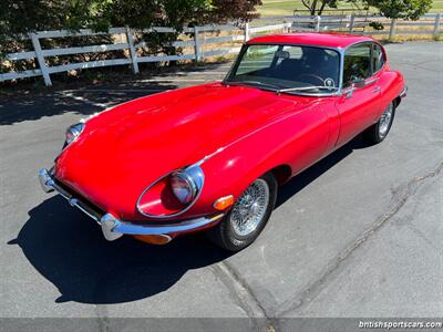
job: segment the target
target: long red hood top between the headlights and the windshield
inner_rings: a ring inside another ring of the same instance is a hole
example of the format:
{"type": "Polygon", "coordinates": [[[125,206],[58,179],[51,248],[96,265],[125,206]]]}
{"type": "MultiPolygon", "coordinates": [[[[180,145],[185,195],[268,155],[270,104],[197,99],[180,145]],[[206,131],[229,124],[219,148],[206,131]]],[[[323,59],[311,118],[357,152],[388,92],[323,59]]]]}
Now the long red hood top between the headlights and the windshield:
{"type": "Polygon", "coordinates": [[[58,158],[55,175],[130,218],[142,190],[158,177],[306,107],[295,96],[219,83],[137,98],[87,121],[58,158]]]}

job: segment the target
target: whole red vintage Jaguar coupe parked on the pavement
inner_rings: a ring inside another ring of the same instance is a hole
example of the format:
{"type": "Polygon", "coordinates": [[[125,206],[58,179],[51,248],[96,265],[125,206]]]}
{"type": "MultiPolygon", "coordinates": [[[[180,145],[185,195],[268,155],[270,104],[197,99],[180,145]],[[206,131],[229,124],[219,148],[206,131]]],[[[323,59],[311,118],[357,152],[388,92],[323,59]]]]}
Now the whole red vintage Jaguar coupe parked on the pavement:
{"type": "Polygon", "coordinates": [[[240,250],[264,229],[278,185],[363,132],[383,141],[405,96],[367,37],[248,41],[223,82],[137,98],[72,125],[39,172],[106,239],[151,243],[205,230],[240,250]]]}

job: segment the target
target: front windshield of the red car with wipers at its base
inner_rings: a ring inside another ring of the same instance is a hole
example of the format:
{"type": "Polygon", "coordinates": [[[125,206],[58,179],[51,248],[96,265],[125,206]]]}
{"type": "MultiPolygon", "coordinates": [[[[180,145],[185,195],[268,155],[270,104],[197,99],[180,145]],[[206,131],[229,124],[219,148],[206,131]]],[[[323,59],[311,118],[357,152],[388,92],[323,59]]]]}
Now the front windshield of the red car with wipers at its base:
{"type": "Polygon", "coordinates": [[[331,93],[339,87],[340,55],[330,49],[251,44],[243,49],[225,84],[286,93],[331,93]]]}

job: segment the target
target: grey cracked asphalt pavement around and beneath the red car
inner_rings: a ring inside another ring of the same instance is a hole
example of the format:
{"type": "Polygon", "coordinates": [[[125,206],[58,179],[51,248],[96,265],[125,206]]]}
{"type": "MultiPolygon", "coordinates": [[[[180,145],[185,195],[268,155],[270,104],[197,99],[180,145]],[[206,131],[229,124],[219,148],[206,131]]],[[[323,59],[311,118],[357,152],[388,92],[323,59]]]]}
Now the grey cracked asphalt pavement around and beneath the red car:
{"type": "Polygon", "coordinates": [[[0,315],[442,317],[443,48],[387,49],[410,87],[388,139],[357,138],[293,178],[259,239],[231,256],[202,236],[106,242],[35,178],[69,124],[222,79],[228,64],[0,104],[0,315]]]}

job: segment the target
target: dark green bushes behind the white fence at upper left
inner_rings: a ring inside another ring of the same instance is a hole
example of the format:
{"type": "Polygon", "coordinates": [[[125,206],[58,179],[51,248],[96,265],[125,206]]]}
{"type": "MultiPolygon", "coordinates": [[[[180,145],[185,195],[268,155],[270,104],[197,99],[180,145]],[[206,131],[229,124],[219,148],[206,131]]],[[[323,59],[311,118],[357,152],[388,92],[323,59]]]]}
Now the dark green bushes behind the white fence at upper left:
{"type": "MultiPolygon", "coordinates": [[[[176,40],[183,27],[247,21],[257,17],[257,4],[261,0],[0,0],[0,54],[21,51],[23,43],[16,40],[28,32],[81,28],[106,31],[111,27],[175,28],[176,33],[138,35],[148,43],[148,52],[174,54],[176,49],[167,44],[176,40]]],[[[63,46],[62,39],[51,42],[52,46],[63,46]]]]}

